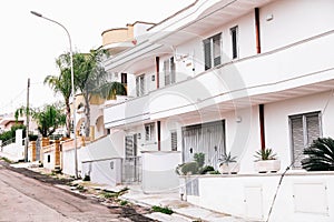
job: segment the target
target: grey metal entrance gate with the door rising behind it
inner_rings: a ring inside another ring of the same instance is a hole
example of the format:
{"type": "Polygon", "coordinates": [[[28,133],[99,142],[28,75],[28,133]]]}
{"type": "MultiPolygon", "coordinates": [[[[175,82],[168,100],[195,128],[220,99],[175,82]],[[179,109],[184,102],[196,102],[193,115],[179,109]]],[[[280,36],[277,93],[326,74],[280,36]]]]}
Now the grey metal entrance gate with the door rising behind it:
{"type": "Polygon", "coordinates": [[[126,155],[122,161],[122,183],[141,181],[141,159],[137,157],[137,134],[125,138],[126,155]]]}

